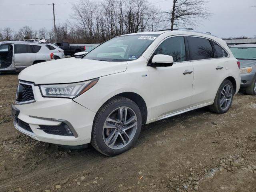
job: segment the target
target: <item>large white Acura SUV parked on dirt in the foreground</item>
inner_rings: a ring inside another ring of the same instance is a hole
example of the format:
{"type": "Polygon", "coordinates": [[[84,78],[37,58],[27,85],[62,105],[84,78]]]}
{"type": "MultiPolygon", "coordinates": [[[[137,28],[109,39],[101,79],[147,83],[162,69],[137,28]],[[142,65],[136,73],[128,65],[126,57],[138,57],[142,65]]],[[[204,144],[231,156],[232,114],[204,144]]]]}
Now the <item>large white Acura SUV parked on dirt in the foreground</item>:
{"type": "Polygon", "coordinates": [[[83,58],[30,66],[18,78],[14,126],[65,146],[102,154],[128,150],[142,124],[196,108],[228,111],[240,88],[226,42],[188,30],[112,38],[83,58]]]}

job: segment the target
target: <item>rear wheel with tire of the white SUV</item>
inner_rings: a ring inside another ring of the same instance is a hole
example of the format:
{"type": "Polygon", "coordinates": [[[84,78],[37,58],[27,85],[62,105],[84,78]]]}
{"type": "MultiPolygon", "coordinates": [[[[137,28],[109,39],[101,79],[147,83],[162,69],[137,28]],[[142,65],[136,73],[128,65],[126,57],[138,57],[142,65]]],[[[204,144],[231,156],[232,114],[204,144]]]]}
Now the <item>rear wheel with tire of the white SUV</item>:
{"type": "Polygon", "coordinates": [[[218,89],[218,92],[215,96],[214,103],[209,106],[209,109],[218,114],[223,114],[226,113],[233,101],[234,97],[234,88],[230,80],[225,79],[221,84],[218,89]],[[225,91],[224,91],[225,88],[225,91]],[[226,94],[226,90],[228,89],[228,93],[226,94]],[[224,102],[223,102],[224,100],[224,102]]]}

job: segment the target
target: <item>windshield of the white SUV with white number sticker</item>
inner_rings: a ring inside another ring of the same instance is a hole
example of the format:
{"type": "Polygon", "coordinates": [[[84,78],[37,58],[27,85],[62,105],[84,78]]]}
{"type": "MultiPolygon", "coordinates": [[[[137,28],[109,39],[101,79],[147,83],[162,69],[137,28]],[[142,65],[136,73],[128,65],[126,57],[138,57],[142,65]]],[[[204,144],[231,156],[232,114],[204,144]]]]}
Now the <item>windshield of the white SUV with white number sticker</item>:
{"type": "Polygon", "coordinates": [[[136,60],[157,36],[158,34],[118,36],[96,47],[84,59],[116,62],[136,60]]]}

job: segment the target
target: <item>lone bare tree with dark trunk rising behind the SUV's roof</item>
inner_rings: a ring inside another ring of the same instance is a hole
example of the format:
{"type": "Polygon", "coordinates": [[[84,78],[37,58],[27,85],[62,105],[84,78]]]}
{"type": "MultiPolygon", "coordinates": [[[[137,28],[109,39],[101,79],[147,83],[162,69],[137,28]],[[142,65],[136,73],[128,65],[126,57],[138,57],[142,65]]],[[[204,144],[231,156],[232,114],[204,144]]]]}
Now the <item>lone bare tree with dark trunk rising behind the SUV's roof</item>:
{"type": "Polygon", "coordinates": [[[171,30],[176,26],[196,25],[200,19],[208,19],[207,0],[173,0],[171,10],[164,11],[170,21],[171,30]]]}

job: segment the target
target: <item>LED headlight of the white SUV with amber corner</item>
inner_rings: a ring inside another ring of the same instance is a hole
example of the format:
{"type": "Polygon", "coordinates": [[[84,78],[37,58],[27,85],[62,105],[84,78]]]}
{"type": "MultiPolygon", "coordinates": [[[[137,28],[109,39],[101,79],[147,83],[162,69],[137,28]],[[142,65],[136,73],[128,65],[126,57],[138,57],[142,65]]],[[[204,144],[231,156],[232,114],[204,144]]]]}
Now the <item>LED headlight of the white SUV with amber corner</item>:
{"type": "Polygon", "coordinates": [[[44,97],[75,98],[92,88],[99,78],[70,84],[40,85],[41,94],[44,97]]]}

